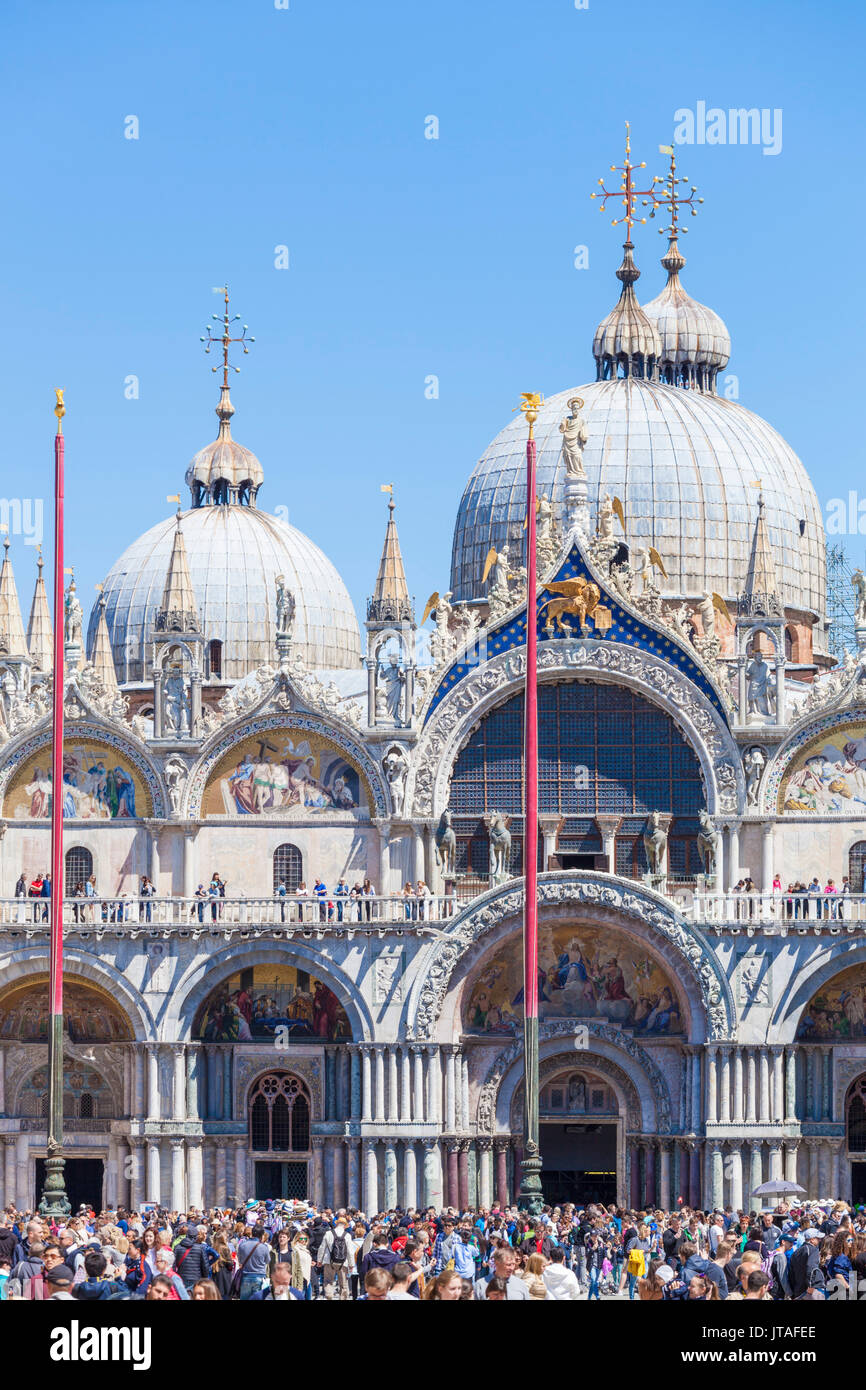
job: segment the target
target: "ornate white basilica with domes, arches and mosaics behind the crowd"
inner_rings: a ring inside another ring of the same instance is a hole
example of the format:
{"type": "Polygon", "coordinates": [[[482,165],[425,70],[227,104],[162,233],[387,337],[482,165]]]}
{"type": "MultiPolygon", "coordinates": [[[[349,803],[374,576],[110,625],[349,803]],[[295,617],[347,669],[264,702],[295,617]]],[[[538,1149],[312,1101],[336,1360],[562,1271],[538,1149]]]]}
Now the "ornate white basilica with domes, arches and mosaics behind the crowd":
{"type": "MultiPolygon", "coordinates": [[[[189,509],[129,545],[86,635],[70,585],[74,1201],[512,1200],[527,852],[548,1200],[748,1208],[787,1177],[866,1201],[866,623],[830,656],[806,470],[724,393],[727,329],[676,231],[663,268],[641,307],[627,242],[595,379],[541,407],[537,595],[520,417],[466,485],[423,619],[391,503],[359,626],[328,557],[264,510],[227,377],[189,509]]],[[[42,577],[25,624],[7,545],[0,1188],[19,1208],[47,1138],[31,892],[56,678],[42,577]]]]}

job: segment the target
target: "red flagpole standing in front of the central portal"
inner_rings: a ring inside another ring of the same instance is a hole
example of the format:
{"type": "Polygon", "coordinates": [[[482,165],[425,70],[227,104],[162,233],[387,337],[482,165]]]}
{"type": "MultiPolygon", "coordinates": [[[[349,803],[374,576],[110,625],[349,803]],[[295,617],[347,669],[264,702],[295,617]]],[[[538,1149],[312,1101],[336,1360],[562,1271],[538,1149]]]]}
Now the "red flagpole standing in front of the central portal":
{"type": "Polygon", "coordinates": [[[524,1134],[518,1205],[542,1209],[538,1129],[538,637],[535,595],[535,438],[541,396],[524,395],[520,407],[530,424],[527,439],[527,676],[524,691],[524,837],[523,837],[523,1045],[524,1134]]]}

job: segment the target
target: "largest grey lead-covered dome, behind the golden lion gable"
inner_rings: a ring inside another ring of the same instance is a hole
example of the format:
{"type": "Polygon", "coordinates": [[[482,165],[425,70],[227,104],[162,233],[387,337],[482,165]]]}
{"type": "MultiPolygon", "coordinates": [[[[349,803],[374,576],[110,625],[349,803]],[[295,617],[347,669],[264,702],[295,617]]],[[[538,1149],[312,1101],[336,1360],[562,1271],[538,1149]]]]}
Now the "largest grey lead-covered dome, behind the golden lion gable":
{"type": "MultiPolygon", "coordinates": [[[[806,470],[771,425],[734,400],[639,375],[596,381],[550,396],[535,423],[538,492],[563,514],[560,421],[584,400],[589,505],[621,498],[632,542],[653,545],[684,596],[742,592],[763,484],[765,520],[785,607],[824,614],[824,527],[806,470]]],[[[487,553],[521,543],[525,514],[525,423],[512,420],[475,467],[457,513],[450,588],[485,595],[487,553]]]]}

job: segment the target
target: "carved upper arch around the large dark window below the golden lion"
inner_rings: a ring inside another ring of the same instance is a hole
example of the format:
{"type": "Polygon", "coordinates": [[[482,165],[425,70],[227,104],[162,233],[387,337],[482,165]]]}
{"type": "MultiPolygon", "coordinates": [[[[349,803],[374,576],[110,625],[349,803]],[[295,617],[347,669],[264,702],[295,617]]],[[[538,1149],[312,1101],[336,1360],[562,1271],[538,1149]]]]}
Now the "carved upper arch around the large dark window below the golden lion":
{"type": "MultiPolygon", "coordinates": [[[[713,702],[671,663],[637,648],[563,638],[542,642],[539,680],[588,680],[623,685],[669,714],[695,753],[710,815],[745,808],[745,783],[737,744],[713,702]]],[[[478,721],[520,694],[525,652],[516,648],[473,667],[435,706],[407,776],[406,805],[416,816],[438,817],[448,806],[459,751],[478,721]]]]}

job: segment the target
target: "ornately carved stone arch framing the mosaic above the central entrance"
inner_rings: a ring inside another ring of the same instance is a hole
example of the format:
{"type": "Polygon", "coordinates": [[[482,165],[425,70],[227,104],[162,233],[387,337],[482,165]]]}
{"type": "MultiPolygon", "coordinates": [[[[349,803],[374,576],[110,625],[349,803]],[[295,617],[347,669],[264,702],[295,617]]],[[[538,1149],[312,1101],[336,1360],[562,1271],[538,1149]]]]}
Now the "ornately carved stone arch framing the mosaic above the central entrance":
{"type": "MultiPolygon", "coordinates": [[[[652,933],[663,935],[685,959],[696,979],[706,1012],[708,1037],[731,1037],[735,1022],[734,999],[713,951],[703,937],[663,898],[623,880],[598,880],[566,874],[545,874],[538,883],[539,906],[592,903],[638,920],[652,933]]],[[[418,995],[413,1034],[432,1038],[442,1012],[455,966],[464,952],[507,917],[523,910],[521,888],[491,890],[460,912],[443,934],[425,970],[418,995]]]]}

